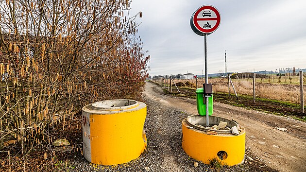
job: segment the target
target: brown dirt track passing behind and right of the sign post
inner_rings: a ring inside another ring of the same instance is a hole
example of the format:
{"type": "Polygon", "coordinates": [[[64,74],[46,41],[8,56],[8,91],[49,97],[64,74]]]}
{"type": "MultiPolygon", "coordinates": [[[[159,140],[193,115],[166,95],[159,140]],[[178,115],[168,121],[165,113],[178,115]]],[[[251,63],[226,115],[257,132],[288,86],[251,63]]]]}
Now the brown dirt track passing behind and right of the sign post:
{"type": "MultiPolygon", "coordinates": [[[[146,83],[144,93],[163,105],[197,114],[195,100],[164,95],[162,89],[152,83],[146,83]]],[[[245,127],[246,148],[267,166],[282,172],[306,172],[305,122],[215,102],[213,115],[237,120],[245,127]],[[278,127],[287,131],[280,131],[278,127]]]]}

